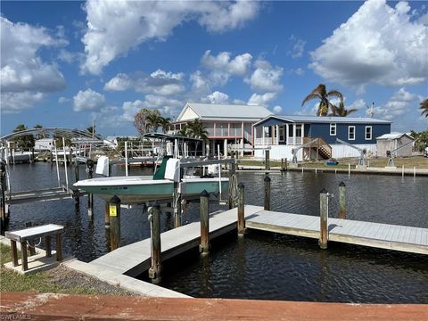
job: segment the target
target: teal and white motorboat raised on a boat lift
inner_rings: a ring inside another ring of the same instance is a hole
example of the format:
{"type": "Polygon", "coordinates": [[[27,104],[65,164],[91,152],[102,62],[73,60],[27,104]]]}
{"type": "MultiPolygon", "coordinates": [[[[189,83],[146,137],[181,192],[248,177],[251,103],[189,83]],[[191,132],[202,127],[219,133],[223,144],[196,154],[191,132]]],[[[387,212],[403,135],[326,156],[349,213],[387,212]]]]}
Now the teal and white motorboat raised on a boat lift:
{"type": "Polygon", "coordinates": [[[171,200],[175,184],[182,198],[198,197],[202,191],[226,192],[227,177],[180,177],[180,160],[165,157],[153,177],[97,177],[78,181],[74,186],[108,201],[117,195],[124,204],[171,200]]]}

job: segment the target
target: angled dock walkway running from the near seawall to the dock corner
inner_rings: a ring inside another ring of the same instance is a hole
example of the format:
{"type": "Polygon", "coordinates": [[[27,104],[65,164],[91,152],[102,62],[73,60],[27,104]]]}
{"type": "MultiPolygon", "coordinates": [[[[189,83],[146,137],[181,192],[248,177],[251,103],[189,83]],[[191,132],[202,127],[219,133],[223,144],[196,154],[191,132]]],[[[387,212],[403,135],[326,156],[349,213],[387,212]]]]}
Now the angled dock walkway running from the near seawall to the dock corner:
{"type": "MultiPolygon", "coordinates": [[[[246,205],[245,215],[257,213],[263,208],[246,205]]],[[[210,239],[236,229],[237,210],[210,213],[210,239]]],[[[161,234],[162,260],[173,258],[192,248],[197,248],[201,240],[200,222],[180,226],[161,234]]],[[[103,255],[89,263],[93,268],[110,270],[116,274],[138,276],[151,266],[150,238],[132,243],[103,255]]]]}

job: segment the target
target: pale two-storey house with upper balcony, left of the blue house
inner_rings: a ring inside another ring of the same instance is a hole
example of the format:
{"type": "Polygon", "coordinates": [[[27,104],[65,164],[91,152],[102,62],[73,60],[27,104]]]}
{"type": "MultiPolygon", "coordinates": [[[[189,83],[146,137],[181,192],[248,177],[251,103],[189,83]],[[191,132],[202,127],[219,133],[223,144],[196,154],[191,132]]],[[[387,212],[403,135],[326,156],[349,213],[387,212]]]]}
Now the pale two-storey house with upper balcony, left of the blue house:
{"type": "Polygon", "coordinates": [[[252,125],[272,112],[260,106],[237,104],[185,103],[177,120],[171,124],[172,133],[185,126],[188,121],[200,119],[208,131],[209,143],[204,147],[206,154],[225,154],[230,148],[252,147],[252,125]]]}

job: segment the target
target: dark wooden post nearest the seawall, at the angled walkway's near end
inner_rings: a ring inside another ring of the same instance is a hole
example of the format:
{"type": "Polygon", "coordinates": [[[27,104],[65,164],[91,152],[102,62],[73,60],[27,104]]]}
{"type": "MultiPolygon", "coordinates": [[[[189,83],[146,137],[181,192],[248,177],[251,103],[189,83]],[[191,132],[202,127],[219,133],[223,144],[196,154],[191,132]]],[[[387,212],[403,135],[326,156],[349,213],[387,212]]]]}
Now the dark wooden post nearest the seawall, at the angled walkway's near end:
{"type": "Polygon", "coordinates": [[[152,213],[149,215],[152,239],[152,267],[149,268],[149,277],[153,284],[161,282],[161,206],[155,201],[152,204],[152,213]]]}

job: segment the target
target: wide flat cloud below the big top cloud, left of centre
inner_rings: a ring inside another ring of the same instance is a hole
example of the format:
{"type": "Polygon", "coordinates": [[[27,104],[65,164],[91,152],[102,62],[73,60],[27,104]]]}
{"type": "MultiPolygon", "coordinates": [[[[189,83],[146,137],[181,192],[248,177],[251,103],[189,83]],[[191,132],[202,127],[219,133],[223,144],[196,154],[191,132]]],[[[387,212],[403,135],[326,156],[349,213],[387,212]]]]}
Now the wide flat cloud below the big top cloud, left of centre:
{"type": "Polygon", "coordinates": [[[124,91],[134,88],[137,92],[153,95],[177,95],[185,91],[185,74],[170,71],[156,70],[150,75],[136,72],[128,76],[124,73],[117,74],[105,85],[104,90],[124,91]]]}

